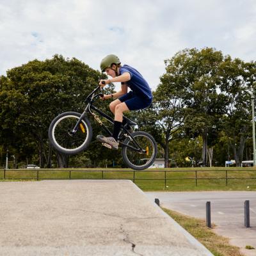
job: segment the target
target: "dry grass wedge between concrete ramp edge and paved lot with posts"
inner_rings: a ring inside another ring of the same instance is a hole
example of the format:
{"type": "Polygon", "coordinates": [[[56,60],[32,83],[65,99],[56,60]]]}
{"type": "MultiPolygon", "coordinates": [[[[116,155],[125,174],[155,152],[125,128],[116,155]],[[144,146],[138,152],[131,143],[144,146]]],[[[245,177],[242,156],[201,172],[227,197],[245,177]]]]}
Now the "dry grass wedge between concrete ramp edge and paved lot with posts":
{"type": "MultiPolygon", "coordinates": [[[[239,248],[228,243],[228,239],[216,235],[211,228],[206,227],[205,221],[162,208],[173,220],[184,227],[192,236],[211,251],[215,256],[243,256],[239,248]]],[[[213,225],[214,229],[214,225],[213,225]]]]}

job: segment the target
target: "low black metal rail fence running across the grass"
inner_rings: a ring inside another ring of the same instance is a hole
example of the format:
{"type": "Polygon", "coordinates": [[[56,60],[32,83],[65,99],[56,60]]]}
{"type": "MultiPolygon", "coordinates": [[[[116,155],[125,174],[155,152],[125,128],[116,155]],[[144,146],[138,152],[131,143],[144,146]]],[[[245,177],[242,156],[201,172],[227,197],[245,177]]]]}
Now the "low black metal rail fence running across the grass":
{"type": "MultiPolygon", "coordinates": [[[[129,173],[132,173],[132,177],[130,178],[126,178],[126,179],[130,179],[132,180],[133,182],[135,182],[136,180],[163,180],[164,181],[164,185],[166,186],[166,181],[168,180],[195,180],[195,186],[198,185],[198,180],[225,180],[225,184],[226,186],[228,186],[228,180],[232,180],[232,179],[238,179],[238,180],[243,180],[243,179],[256,179],[256,170],[232,170],[230,168],[225,168],[225,170],[205,170],[205,169],[202,169],[202,170],[142,170],[142,171],[137,171],[137,170],[108,170],[108,169],[102,169],[102,170],[77,170],[76,168],[67,168],[67,169],[4,169],[4,170],[0,170],[0,173],[2,173],[2,176],[0,176],[0,179],[4,179],[4,180],[44,180],[44,179],[109,179],[109,178],[106,178],[106,173],[109,173],[109,172],[118,172],[118,173],[125,173],[125,172],[129,172],[129,173]],[[17,172],[33,172],[35,173],[34,175],[32,175],[33,177],[10,177],[10,173],[13,173],[15,172],[17,174],[17,172]],[[40,175],[40,173],[42,172],[60,172],[60,173],[68,173],[67,177],[42,177],[42,175],[40,175]],[[81,172],[81,173],[100,173],[99,177],[98,178],[95,178],[95,177],[72,177],[72,173],[74,172],[81,172]],[[153,177],[153,179],[151,178],[138,178],[136,177],[136,174],[137,173],[163,173],[164,177],[163,178],[156,178],[156,177],[153,177]],[[194,176],[193,177],[166,177],[166,173],[183,173],[183,172],[188,172],[188,173],[194,173],[194,176]],[[222,172],[224,173],[223,177],[198,177],[198,173],[202,173],[202,172],[222,172]],[[243,172],[254,172],[253,173],[253,176],[255,177],[230,177],[230,173],[234,173],[236,172],[237,173],[243,173],[243,172]],[[105,177],[104,177],[105,175],[105,177]]],[[[113,178],[110,178],[110,179],[120,179],[120,177],[113,177],[113,178]]]]}

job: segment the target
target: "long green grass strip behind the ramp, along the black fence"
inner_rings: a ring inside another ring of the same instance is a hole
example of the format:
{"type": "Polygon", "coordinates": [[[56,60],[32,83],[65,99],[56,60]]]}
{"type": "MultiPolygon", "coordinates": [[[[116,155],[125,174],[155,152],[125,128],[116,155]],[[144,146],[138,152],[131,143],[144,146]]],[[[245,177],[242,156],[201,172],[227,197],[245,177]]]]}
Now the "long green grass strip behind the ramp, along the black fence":
{"type": "MultiPolygon", "coordinates": [[[[143,172],[113,168],[5,171],[5,179],[8,180],[102,179],[102,177],[103,179],[134,179],[135,184],[143,191],[256,190],[256,168],[166,168],[148,169],[143,172]]],[[[0,170],[0,180],[4,180],[4,170],[0,170]]]]}

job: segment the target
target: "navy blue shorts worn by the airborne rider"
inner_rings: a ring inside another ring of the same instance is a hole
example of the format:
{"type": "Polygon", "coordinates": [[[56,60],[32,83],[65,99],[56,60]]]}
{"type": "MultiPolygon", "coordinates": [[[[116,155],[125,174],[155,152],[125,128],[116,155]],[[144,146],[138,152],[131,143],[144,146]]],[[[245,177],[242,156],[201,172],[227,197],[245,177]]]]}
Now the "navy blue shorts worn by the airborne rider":
{"type": "Polygon", "coordinates": [[[132,91],[121,96],[120,98],[118,98],[118,100],[120,100],[121,102],[125,102],[129,110],[147,108],[152,103],[152,99],[143,99],[141,97],[138,97],[132,91]]]}

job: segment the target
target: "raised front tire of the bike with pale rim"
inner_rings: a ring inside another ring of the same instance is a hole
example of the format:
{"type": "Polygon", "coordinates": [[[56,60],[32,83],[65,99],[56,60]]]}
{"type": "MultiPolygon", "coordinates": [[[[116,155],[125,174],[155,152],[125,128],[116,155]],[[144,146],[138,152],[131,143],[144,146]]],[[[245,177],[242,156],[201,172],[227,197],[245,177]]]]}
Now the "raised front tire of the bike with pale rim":
{"type": "Polygon", "coordinates": [[[92,125],[90,124],[90,121],[88,120],[88,118],[86,118],[86,116],[84,116],[84,118],[82,120],[83,127],[85,128],[84,132],[86,132],[86,138],[83,141],[82,145],[80,145],[78,148],[70,149],[70,148],[63,147],[63,145],[60,145],[60,143],[58,143],[58,141],[56,141],[55,134],[54,134],[56,125],[58,125],[61,122],[61,120],[64,120],[65,118],[73,117],[78,120],[80,118],[80,116],[81,116],[80,113],[68,111],[65,113],[61,113],[60,115],[56,116],[56,118],[54,118],[52,120],[52,122],[49,126],[48,137],[49,137],[49,141],[51,142],[52,147],[54,147],[58,152],[61,152],[63,154],[67,154],[67,155],[75,155],[80,152],[83,152],[88,147],[90,142],[92,141],[92,133],[93,133],[92,125]]]}

